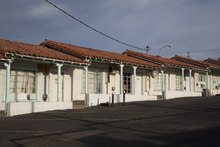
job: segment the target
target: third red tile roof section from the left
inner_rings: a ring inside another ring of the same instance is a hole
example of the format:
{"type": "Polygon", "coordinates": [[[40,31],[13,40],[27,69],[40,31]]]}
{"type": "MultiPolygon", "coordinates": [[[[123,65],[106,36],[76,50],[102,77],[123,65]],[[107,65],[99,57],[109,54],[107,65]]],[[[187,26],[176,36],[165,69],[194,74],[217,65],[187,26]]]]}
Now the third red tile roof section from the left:
{"type": "Polygon", "coordinates": [[[136,52],[136,51],[132,51],[132,50],[127,50],[126,52],[124,52],[124,54],[132,56],[132,57],[140,58],[142,60],[154,62],[154,63],[160,64],[160,65],[164,65],[164,66],[198,69],[197,66],[194,66],[191,64],[179,62],[179,61],[169,59],[169,58],[164,58],[161,56],[153,56],[153,55],[149,55],[149,54],[145,54],[145,53],[140,53],[140,52],[136,52]]]}

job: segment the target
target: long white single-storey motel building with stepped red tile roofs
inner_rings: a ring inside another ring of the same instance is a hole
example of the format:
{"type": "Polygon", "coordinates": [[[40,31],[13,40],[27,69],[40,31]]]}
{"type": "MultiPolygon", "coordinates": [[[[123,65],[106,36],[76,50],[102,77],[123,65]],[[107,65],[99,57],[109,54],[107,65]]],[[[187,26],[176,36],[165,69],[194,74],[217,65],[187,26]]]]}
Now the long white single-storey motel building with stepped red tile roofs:
{"type": "Polygon", "coordinates": [[[213,59],[114,53],[45,40],[0,39],[0,110],[7,116],[101,103],[220,94],[213,59]]]}

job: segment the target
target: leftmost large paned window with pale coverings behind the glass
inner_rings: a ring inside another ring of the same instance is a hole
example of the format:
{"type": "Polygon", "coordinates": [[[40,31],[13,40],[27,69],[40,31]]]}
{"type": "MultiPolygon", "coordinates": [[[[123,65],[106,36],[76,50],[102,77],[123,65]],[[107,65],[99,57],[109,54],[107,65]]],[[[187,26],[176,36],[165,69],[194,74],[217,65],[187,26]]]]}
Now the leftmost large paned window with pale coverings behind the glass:
{"type": "Polygon", "coordinates": [[[10,92],[11,93],[35,93],[36,75],[31,71],[11,71],[10,92]]]}

